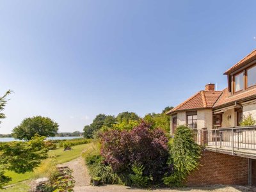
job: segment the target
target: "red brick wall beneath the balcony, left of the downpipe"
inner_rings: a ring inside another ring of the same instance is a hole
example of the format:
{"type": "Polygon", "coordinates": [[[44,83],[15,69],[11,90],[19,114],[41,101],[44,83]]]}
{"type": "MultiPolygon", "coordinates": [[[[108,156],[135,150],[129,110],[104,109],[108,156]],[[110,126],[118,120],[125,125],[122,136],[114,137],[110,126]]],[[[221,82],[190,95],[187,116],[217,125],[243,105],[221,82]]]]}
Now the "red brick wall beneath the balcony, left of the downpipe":
{"type": "Polygon", "coordinates": [[[211,184],[248,184],[248,159],[216,152],[205,151],[198,170],[191,173],[188,186],[211,184]]]}

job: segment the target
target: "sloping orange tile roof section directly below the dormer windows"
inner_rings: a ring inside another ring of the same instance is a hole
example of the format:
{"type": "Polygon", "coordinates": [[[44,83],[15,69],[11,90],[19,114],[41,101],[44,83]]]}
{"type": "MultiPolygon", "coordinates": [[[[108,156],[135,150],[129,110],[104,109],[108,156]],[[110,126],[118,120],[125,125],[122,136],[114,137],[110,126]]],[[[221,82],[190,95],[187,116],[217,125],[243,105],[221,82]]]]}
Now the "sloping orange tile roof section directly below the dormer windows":
{"type": "Polygon", "coordinates": [[[239,100],[246,100],[254,96],[256,97],[256,88],[239,92],[234,95],[228,92],[228,88],[225,88],[225,90],[223,90],[223,93],[220,96],[220,99],[217,100],[213,108],[220,108],[223,105],[232,104],[235,101],[239,101],[239,100]]]}

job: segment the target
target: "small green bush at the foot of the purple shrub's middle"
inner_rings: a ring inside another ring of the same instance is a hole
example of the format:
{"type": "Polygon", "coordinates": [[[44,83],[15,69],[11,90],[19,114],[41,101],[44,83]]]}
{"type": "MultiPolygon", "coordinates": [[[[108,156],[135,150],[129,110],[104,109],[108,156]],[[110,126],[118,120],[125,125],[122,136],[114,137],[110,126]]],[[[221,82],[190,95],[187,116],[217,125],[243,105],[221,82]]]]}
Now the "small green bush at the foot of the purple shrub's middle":
{"type": "Polygon", "coordinates": [[[143,176],[143,170],[145,168],[143,165],[133,165],[132,166],[132,174],[129,174],[129,177],[132,181],[132,185],[136,187],[143,187],[145,188],[148,185],[148,180],[150,180],[149,177],[143,176]]]}

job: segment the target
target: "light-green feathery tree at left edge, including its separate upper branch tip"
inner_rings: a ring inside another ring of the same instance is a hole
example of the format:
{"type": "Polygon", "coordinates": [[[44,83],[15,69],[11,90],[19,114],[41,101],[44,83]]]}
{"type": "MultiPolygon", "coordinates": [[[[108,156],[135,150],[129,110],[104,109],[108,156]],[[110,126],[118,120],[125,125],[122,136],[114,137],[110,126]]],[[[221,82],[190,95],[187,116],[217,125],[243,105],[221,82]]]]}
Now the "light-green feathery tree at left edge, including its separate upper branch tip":
{"type": "MultiPolygon", "coordinates": [[[[10,93],[11,91],[8,90],[3,97],[0,97],[0,119],[5,118],[2,111],[7,102],[6,97],[10,93]]],[[[12,180],[4,175],[6,170],[12,170],[15,173],[32,172],[46,157],[47,148],[44,137],[38,135],[28,142],[0,143],[0,188],[12,180]]]]}

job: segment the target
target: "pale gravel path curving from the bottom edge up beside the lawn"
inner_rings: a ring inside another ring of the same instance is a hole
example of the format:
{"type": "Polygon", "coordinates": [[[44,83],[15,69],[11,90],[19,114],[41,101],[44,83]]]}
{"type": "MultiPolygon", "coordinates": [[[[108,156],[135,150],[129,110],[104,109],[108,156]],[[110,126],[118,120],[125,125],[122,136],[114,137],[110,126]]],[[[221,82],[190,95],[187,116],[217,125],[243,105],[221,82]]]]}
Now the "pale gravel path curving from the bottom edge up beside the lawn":
{"type": "Polygon", "coordinates": [[[68,166],[73,170],[72,175],[76,180],[74,191],[75,192],[177,192],[177,191],[189,191],[189,192],[249,192],[256,191],[256,188],[250,188],[246,186],[223,186],[223,185],[214,185],[214,186],[205,186],[200,188],[182,188],[182,189],[136,189],[130,188],[127,186],[116,186],[116,185],[102,185],[102,186],[91,186],[90,185],[90,175],[86,168],[83,157],[79,157],[70,162],[60,164],[59,166],[68,166]]]}

